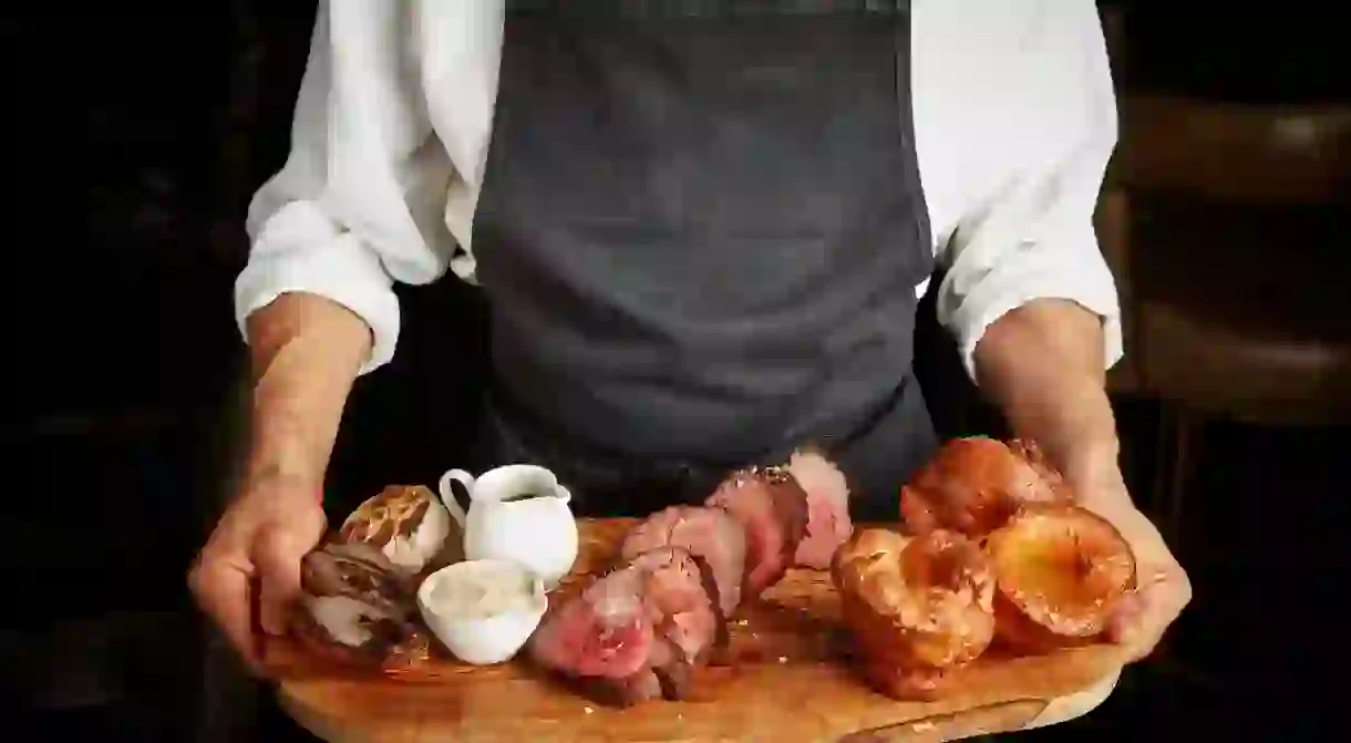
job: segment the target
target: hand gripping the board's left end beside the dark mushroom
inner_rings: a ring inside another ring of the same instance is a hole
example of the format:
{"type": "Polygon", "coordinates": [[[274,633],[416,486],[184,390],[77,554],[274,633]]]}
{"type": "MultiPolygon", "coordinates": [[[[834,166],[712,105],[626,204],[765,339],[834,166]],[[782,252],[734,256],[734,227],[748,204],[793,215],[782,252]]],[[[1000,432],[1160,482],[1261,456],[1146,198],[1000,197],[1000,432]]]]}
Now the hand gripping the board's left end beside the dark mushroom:
{"type": "Polygon", "coordinates": [[[253,605],[259,605],[265,632],[285,632],[286,613],[300,594],[300,561],[324,534],[320,493],[322,485],[300,478],[253,478],[216,523],[188,574],[197,605],[254,673],[262,667],[253,605]]]}

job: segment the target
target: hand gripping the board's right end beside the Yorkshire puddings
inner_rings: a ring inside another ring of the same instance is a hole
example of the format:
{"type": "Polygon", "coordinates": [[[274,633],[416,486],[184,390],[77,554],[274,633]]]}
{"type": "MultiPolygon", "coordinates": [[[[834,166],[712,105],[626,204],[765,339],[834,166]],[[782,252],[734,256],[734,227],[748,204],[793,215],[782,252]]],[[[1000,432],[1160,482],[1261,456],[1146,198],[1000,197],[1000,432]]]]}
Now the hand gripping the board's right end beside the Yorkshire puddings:
{"type": "Polygon", "coordinates": [[[1154,651],[1192,601],[1192,581],[1159,530],[1131,503],[1125,488],[1116,488],[1120,490],[1086,493],[1084,505],[1112,521],[1135,553],[1136,590],[1125,597],[1108,625],[1108,636],[1125,647],[1133,662],[1154,651]]]}

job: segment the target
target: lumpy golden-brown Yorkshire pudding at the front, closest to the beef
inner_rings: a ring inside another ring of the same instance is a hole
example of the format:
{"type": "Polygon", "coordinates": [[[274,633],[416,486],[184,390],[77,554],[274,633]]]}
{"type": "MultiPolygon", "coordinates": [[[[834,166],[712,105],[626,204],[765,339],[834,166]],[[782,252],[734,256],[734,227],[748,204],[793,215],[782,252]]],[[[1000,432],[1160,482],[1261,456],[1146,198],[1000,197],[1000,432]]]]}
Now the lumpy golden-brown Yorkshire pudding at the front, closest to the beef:
{"type": "Polygon", "coordinates": [[[862,530],[831,573],[865,675],[894,698],[934,696],[994,634],[989,562],[959,534],[862,530]]]}

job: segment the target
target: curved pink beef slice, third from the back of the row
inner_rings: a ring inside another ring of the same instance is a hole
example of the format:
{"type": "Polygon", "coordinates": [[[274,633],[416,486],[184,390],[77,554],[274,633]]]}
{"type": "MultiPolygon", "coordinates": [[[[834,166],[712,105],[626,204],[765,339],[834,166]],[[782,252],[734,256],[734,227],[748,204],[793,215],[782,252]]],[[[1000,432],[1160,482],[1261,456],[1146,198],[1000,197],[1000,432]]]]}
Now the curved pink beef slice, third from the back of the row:
{"type": "Polygon", "coordinates": [[[620,550],[624,561],[659,547],[682,547],[701,559],[713,574],[723,616],[731,616],[742,600],[746,573],[746,531],[721,508],[673,505],[634,527],[620,550]]]}

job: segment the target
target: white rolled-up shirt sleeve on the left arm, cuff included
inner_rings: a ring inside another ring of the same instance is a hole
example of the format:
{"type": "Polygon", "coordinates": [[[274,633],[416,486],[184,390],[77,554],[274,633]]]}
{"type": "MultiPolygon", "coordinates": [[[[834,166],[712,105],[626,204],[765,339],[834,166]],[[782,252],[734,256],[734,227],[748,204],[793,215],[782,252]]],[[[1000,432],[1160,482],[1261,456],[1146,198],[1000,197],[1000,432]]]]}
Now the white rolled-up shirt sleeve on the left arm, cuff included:
{"type": "Polygon", "coordinates": [[[249,262],[235,282],[246,320],[278,296],[330,299],[370,326],[362,373],[399,338],[394,281],[444,273],[454,168],[426,113],[400,3],[320,3],[285,166],[254,196],[249,262]]]}

